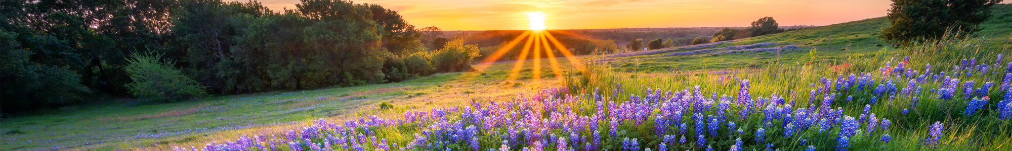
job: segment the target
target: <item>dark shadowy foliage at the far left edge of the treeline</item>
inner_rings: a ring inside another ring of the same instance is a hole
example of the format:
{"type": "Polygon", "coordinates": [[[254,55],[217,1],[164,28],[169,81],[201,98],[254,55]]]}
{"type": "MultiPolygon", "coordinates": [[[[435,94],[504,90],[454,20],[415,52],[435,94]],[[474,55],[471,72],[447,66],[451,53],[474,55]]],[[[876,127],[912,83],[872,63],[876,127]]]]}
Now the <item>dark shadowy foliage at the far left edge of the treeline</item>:
{"type": "Polygon", "coordinates": [[[0,29],[0,110],[16,112],[72,104],[90,93],[81,85],[81,74],[71,68],[74,65],[60,62],[79,56],[70,51],[65,40],[52,35],[0,29]]]}

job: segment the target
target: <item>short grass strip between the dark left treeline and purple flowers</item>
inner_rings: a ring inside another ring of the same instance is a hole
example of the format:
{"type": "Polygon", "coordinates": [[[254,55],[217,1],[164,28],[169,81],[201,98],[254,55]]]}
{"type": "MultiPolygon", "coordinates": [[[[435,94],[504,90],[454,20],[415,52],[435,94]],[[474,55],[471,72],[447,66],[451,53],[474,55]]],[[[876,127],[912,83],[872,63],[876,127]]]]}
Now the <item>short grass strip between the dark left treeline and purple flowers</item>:
{"type": "MultiPolygon", "coordinates": [[[[568,64],[565,59],[560,61],[568,64]]],[[[533,66],[530,61],[525,63],[527,69],[519,74],[520,80],[503,81],[513,63],[499,62],[492,63],[485,71],[436,73],[402,83],[210,96],[167,104],[126,100],[64,108],[3,119],[0,132],[5,134],[0,135],[0,150],[45,150],[54,146],[71,150],[202,146],[242,134],[298,129],[310,120],[321,118],[346,119],[453,106],[471,100],[503,100],[557,86],[551,69],[544,67],[549,61],[541,62],[538,66],[542,66],[544,80],[539,81],[530,80],[529,68],[533,66]],[[384,104],[392,109],[380,110],[384,104]],[[138,134],[237,126],[243,129],[134,139],[138,134]]]]}

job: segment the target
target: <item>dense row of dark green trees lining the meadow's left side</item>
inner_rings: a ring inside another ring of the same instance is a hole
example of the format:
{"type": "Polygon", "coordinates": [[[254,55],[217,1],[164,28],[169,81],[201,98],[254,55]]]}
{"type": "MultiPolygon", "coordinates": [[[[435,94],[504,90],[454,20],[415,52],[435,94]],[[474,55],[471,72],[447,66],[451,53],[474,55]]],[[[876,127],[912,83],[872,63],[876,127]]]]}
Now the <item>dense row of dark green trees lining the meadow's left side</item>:
{"type": "Polygon", "coordinates": [[[396,11],[344,0],[280,12],[256,1],[5,0],[2,112],[399,82],[469,69],[478,55],[460,40],[429,48],[423,35],[396,11]],[[172,86],[187,81],[199,86],[172,86]]]}

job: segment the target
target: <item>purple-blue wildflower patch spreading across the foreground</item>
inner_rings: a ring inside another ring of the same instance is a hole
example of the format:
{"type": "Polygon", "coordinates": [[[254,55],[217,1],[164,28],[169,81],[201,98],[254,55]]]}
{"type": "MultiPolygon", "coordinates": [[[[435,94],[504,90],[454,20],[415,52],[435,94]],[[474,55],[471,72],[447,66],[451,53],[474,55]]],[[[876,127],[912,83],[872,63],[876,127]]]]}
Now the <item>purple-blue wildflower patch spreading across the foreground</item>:
{"type": "Polygon", "coordinates": [[[1006,77],[1012,72],[1012,65],[1007,65],[1012,62],[979,63],[972,59],[951,69],[925,65],[918,67],[923,67],[920,71],[908,61],[909,57],[895,64],[888,62],[872,72],[823,78],[811,85],[813,90],[806,91],[810,93],[797,95],[807,96],[807,100],[776,94],[753,96],[752,82],[737,78],[731,83],[738,91],[729,94],[704,92],[699,86],[646,89],[629,92],[642,95],[620,97],[615,96],[625,90],[588,94],[556,88],[505,102],[472,102],[462,107],[409,111],[393,118],[317,120],[283,136],[242,136],[235,141],[175,150],[847,151],[867,149],[855,148],[869,146],[866,143],[897,143],[893,138],[900,136],[890,135],[896,127],[902,128],[898,131],[923,130],[925,133],[902,136],[916,137],[918,145],[930,149],[947,142],[944,134],[950,132],[945,132],[946,123],[887,117],[902,118],[893,114],[901,109],[904,115],[908,109],[926,111],[917,109],[918,104],[930,100],[964,109],[959,117],[1009,119],[1012,87],[1008,85],[1012,80],[1006,77]],[[1006,79],[989,79],[993,76],[1006,79]],[[1001,94],[1005,95],[1003,101],[990,101],[989,95],[1001,94]],[[923,127],[920,123],[933,124],[923,127]]]}

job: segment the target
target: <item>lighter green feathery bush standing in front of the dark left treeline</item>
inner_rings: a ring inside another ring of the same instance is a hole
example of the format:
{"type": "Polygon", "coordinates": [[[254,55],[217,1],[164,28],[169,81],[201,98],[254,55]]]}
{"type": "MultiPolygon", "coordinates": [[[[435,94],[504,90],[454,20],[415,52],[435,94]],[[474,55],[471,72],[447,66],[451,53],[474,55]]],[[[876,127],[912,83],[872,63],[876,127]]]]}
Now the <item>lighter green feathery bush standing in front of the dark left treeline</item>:
{"type": "Polygon", "coordinates": [[[204,87],[183,76],[173,67],[173,61],[161,61],[158,54],[134,54],[123,68],[133,83],[126,89],[135,97],[168,102],[197,97],[204,94],[204,87]]]}

